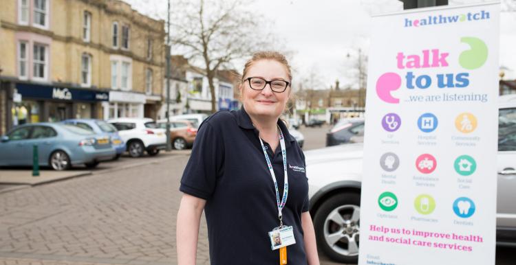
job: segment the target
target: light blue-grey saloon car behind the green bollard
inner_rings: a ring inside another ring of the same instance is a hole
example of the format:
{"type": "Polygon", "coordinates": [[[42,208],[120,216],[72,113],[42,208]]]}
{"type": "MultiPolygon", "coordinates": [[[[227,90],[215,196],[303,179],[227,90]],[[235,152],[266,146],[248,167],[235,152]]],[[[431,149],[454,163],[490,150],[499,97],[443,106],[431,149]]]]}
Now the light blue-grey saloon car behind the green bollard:
{"type": "Polygon", "coordinates": [[[113,159],[116,151],[109,137],[76,126],[42,122],[23,124],[1,137],[0,165],[32,165],[33,146],[38,146],[38,164],[67,170],[84,164],[95,168],[113,159]]]}

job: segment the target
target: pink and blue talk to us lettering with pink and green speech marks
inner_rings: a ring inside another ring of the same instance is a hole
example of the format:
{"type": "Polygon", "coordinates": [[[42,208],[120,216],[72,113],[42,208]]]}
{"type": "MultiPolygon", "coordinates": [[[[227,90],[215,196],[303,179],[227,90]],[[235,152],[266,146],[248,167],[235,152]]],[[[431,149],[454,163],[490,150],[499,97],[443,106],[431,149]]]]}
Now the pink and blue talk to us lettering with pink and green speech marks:
{"type": "MultiPolygon", "coordinates": [[[[417,54],[407,54],[398,51],[396,57],[396,71],[383,73],[376,80],[376,94],[383,102],[390,104],[400,103],[400,99],[392,95],[401,87],[409,91],[433,89],[467,89],[469,87],[469,72],[482,67],[488,58],[488,47],[480,38],[464,36],[460,43],[470,47],[460,52],[458,64],[462,69],[458,72],[450,71],[449,59],[451,52],[431,47],[423,49],[417,54]],[[424,74],[423,69],[442,69],[433,75],[424,74]],[[415,72],[418,71],[418,72],[415,72]]],[[[410,95],[409,95],[410,96],[410,95]]]]}

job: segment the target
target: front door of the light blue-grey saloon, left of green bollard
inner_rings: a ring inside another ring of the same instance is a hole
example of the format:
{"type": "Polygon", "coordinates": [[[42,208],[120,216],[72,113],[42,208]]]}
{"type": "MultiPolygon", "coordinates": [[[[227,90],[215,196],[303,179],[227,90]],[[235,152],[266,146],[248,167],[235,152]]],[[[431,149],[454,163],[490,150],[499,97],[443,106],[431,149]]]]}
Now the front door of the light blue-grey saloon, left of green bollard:
{"type": "Polygon", "coordinates": [[[29,165],[32,146],[28,144],[32,126],[16,128],[8,133],[9,140],[0,143],[0,160],[3,165],[29,165]]]}

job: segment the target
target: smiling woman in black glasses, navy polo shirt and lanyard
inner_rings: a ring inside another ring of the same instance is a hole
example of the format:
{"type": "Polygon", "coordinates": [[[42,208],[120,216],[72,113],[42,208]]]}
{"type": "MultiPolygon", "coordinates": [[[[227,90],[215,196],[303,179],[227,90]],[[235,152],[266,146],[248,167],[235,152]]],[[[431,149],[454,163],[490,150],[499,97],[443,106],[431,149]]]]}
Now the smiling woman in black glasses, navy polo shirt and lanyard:
{"type": "Polygon", "coordinates": [[[283,55],[258,52],[244,67],[241,110],[218,112],[202,123],[181,180],[180,265],[195,264],[203,209],[213,265],[319,264],[305,157],[279,119],[291,80],[283,55]],[[279,246],[271,233],[280,226],[295,244],[282,238],[283,247],[272,250],[279,246]]]}

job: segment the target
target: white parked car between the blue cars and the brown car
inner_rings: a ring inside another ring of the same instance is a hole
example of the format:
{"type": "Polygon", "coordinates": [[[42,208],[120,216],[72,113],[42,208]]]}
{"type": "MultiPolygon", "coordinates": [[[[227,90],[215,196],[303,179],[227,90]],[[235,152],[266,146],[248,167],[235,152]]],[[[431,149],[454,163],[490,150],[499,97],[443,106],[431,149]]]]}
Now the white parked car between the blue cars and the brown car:
{"type": "Polygon", "coordinates": [[[144,151],[155,156],[166,148],[165,130],[158,128],[153,119],[118,118],[107,122],[118,129],[118,135],[126,142],[131,157],[141,157],[144,151]]]}

